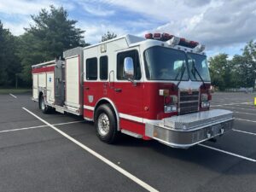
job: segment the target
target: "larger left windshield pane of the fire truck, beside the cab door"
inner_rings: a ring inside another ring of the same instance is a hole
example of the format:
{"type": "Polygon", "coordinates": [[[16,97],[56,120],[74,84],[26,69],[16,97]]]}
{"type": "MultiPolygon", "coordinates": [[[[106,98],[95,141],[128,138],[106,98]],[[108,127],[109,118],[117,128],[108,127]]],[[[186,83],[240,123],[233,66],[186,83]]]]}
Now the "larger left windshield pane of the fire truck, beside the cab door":
{"type": "Polygon", "coordinates": [[[189,80],[186,54],[181,50],[155,46],[145,50],[144,58],[149,80],[189,80]]]}

